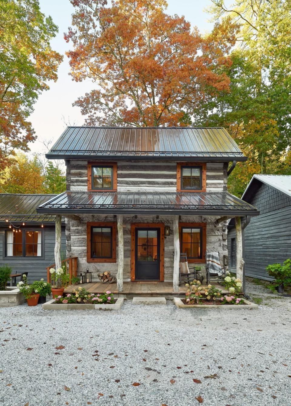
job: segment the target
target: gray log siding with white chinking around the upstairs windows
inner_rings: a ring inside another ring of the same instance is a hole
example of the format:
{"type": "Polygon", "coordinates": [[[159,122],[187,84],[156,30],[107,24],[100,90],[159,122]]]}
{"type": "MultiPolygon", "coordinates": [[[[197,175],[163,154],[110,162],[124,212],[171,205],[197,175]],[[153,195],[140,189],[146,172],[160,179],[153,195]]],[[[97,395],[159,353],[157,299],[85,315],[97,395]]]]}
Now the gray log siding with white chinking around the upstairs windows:
{"type": "MultiPolygon", "coordinates": [[[[67,190],[88,190],[88,161],[66,161],[67,190]]],[[[227,163],[208,162],[206,191],[227,191],[227,163]]],[[[176,192],[176,163],[172,162],[118,162],[118,192],[176,192]]]]}

